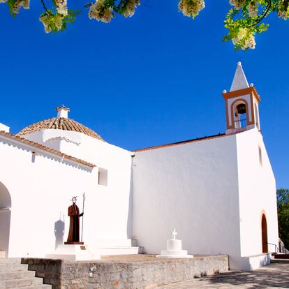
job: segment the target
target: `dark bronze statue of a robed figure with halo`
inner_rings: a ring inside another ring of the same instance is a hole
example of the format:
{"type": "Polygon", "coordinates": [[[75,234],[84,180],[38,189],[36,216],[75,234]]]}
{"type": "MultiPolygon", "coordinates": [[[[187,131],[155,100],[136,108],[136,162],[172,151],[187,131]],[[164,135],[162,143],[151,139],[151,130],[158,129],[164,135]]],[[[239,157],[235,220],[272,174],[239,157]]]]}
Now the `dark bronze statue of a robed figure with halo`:
{"type": "Polygon", "coordinates": [[[68,216],[70,216],[69,233],[66,244],[80,243],[80,209],[76,205],[76,197],[72,199],[73,205],[68,207],[68,216]]]}

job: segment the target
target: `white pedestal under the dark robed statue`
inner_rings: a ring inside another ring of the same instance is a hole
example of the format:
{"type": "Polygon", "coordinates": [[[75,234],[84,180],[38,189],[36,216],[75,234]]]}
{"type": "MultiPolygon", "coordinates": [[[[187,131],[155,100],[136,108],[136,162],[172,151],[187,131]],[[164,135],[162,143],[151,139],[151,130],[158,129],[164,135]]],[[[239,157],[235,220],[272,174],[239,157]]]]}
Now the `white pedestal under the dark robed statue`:
{"type": "Polygon", "coordinates": [[[85,245],[59,245],[54,253],[46,254],[46,258],[84,261],[101,259],[101,255],[91,254],[85,245]]]}

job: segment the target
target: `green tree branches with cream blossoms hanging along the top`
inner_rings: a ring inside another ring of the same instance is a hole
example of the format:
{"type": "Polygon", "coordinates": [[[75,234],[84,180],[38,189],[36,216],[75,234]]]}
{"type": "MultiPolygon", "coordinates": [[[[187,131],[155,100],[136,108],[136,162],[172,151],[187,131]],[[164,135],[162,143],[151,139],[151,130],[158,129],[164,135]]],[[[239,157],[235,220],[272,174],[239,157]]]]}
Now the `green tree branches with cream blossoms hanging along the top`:
{"type": "MultiPolygon", "coordinates": [[[[20,8],[29,9],[30,0],[0,0],[7,3],[10,13],[16,16],[20,8]]],[[[40,0],[44,12],[40,15],[46,33],[64,31],[68,23],[75,22],[80,10],[68,9],[67,0],[52,0],[52,7],[47,8],[45,1],[40,0]]],[[[218,0],[220,1],[220,0],[218,0]]],[[[228,0],[226,0],[228,1],[228,0]]],[[[228,34],[223,41],[230,41],[235,50],[255,48],[255,34],[267,31],[269,24],[263,22],[270,13],[286,20],[289,17],[289,0],[229,0],[232,8],[228,11],[224,26],[228,34]]],[[[135,9],[140,6],[140,0],[94,0],[86,3],[90,20],[105,23],[112,21],[116,15],[132,17],[135,9]]],[[[179,0],[179,11],[184,16],[195,19],[205,8],[205,0],[179,0]]]]}

